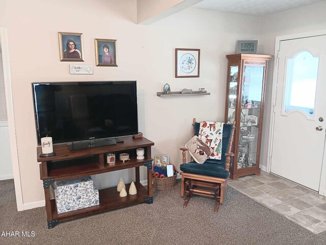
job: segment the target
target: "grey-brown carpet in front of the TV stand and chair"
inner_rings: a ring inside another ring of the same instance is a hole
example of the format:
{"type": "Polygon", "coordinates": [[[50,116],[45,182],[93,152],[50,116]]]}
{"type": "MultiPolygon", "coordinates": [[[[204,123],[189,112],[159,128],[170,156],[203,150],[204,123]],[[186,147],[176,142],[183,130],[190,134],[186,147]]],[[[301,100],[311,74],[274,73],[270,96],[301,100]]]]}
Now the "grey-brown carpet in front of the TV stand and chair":
{"type": "Polygon", "coordinates": [[[180,183],[155,191],[153,204],[139,204],[70,220],[47,229],[45,208],[16,211],[13,180],[0,181],[0,244],[326,244],[318,235],[229,188],[218,214],[214,201],[193,197],[182,207],[180,183]],[[35,232],[21,237],[21,231],[35,232]]]}

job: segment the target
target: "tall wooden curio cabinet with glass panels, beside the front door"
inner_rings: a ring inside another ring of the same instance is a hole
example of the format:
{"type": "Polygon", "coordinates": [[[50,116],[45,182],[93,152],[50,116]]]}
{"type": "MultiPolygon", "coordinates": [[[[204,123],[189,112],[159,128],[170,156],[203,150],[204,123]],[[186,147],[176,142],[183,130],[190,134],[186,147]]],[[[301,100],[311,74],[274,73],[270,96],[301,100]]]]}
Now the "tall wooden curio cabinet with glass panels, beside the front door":
{"type": "Polygon", "coordinates": [[[230,178],[260,175],[259,158],[263,126],[267,63],[271,55],[227,55],[225,121],[236,121],[230,178]]]}

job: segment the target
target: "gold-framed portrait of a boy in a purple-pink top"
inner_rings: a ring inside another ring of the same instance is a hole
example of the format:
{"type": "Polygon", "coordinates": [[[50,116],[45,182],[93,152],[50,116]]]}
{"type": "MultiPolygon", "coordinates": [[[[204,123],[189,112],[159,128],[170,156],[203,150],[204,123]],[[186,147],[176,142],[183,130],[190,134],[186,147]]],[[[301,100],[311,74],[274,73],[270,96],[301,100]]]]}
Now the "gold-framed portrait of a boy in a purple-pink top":
{"type": "Polygon", "coordinates": [[[95,39],[96,66],[118,66],[116,41],[95,39]]]}

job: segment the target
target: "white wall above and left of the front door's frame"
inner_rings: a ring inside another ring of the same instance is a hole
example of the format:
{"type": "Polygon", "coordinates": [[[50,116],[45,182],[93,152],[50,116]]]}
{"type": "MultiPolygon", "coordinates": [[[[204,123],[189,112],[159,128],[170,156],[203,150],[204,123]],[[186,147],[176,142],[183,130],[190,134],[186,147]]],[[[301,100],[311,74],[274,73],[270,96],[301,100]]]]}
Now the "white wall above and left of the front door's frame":
{"type": "MultiPolygon", "coordinates": [[[[326,28],[326,2],[307,5],[260,18],[259,53],[274,55],[275,38],[277,36],[303,33],[326,28]]],[[[271,101],[271,85],[273,80],[274,60],[268,65],[266,84],[266,97],[264,109],[264,125],[261,142],[260,165],[265,168],[267,164],[267,146],[269,130],[269,114],[271,101]]]]}

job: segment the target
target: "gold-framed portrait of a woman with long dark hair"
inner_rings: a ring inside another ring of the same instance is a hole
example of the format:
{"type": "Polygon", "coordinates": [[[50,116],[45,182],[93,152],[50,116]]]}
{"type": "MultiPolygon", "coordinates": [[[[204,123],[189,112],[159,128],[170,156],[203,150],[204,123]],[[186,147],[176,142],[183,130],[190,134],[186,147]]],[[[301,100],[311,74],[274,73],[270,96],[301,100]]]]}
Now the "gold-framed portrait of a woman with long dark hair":
{"type": "Polygon", "coordinates": [[[60,61],[84,61],[82,34],[59,32],[60,61]]]}

